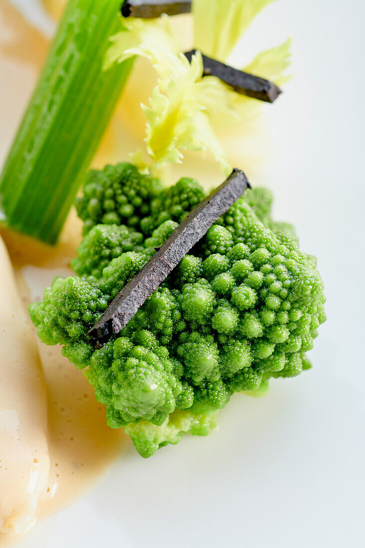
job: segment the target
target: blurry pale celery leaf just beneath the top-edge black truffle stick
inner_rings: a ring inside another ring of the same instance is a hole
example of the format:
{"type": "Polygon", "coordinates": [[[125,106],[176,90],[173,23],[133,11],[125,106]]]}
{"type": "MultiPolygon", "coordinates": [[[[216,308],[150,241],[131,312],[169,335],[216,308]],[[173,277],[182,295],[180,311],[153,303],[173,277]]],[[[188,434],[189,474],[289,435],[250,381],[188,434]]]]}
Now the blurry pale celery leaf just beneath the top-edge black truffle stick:
{"type": "Polygon", "coordinates": [[[142,45],[153,47],[158,44],[170,52],[179,52],[179,44],[167,15],[151,20],[121,17],[121,21],[122,31],[110,38],[111,46],[106,53],[104,70],[115,62],[121,63],[129,59],[132,55],[130,52],[126,53],[127,50],[142,45]]]}

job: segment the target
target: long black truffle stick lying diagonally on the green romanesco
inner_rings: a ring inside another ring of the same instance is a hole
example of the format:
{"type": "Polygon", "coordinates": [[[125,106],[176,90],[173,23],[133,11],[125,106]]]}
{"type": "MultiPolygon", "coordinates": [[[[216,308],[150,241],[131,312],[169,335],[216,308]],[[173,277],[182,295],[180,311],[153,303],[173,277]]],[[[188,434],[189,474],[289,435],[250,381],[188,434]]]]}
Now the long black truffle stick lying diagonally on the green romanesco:
{"type": "Polygon", "coordinates": [[[119,333],[133,318],[181,259],[195,246],[213,223],[243,195],[250,184],[246,175],[234,169],[229,178],[199,203],[181,222],[147,264],[111,302],[89,336],[101,348],[112,334],[119,333]]]}

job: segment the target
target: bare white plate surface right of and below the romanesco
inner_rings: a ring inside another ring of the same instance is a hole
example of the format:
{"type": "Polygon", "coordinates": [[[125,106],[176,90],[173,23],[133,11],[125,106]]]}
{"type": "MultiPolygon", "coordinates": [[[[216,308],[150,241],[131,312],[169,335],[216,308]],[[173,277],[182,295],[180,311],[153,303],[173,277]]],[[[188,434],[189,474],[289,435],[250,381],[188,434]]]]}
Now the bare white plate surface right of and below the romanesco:
{"type": "Polygon", "coordinates": [[[233,397],[207,438],[149,460],[129,447],[22,546],[365,545],[364,5],[282,0],[244,40],[263,49],[294,36],[295,77],[270,111],[260,184],[275,187],[277,218],[295,221],[319,258],[328,321],[313,369],[274,381],[263,399],[233,397]]]}

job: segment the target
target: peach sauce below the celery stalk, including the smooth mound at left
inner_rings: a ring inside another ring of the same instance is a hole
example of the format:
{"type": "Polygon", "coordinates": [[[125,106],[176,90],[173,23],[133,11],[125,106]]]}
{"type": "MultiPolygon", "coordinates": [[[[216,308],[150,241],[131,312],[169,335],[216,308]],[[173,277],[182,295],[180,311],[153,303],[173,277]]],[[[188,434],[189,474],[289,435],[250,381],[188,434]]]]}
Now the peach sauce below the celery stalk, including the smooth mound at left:
{"type": "MultiPolygon", "coordinates": [[[[60,346],[47,346],[38,340],[24,308],[28,302],[42,298],[43,289],[52,283],[55,276],[72,273],[67,265],[79,242],[76,215],[70,216],[56,248],[48,248],[9,231],[2,231],[2,236],[12,257],[15,277],[2,243],[0,458],[2,461],[6,458],[9,465],[6,478],[0,473],[0,500],[2,503],[7,501],[3,493],[13,500],[18,492],[26,491],[26,485],[31,486],[31,506],[21,506],[20,503],[1,506],[5,520],[12,506],[20,509],[20,526],[15,530],[20,534],[32,525],[36,515],[44,516],[79,498],[121,454],[127,438],[122,431],[111,430],[106,425],[104,406],[96,401],[82,372],[61,355],[60,346]],[[10,316],[4,314],[6,311],[10,316]],[[6,408],[4,393],[8,395],[6,408]],[[3,415],[2,410],[8,413],[3,415]],[[5,441],[15,435],[15,422],[10,422],[15,413],[19,439],[7,456],[5,441]],[[34,449],[24,455],[24,447],[34,449]],[[33,458],[37,455],[42,455],[42,458],[38,456],[39,462],[34,464],[33,458]],[[18,461],[26,463],[22,464],[21,470],[14,466],[18,461]],[[37,471],[42,471],[42,474],[39,472],[40,479],[35,483],[37,471]]],[[[10,529],[1,528],[2,532],[10,529]]],[[[7,540],[4,538],[7,536],[3,535],[1,540],[7,540]]]]}

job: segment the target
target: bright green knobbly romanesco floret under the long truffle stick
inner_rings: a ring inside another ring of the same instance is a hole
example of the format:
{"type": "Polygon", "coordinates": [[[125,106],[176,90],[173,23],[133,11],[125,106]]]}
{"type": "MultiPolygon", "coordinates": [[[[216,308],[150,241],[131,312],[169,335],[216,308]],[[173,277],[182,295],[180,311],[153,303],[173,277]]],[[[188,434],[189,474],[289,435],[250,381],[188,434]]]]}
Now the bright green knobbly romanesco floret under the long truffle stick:
{"type": "Polygon", "coordinates": [[[86,235],[72,262],[78,276],[56,278],[30,307],[39,338],[63,345],[85,368],[108,424],[124,427],[142,456],[184,432],[206,435],[234,392],[264,393],[270,378],[310,368],[305,352],[326,319],[315,259],[299,250],[291,225],[272,221],[271,193],[255,189],[208,230],[120,336],[94,350],[88,330],[203,197],[191,179],[158,189],[129,164],[92,172],[79,201],[86,235]],[[117,202],[132,206],[133,222],[117,202]]]}

